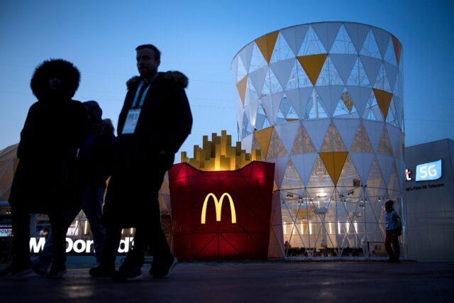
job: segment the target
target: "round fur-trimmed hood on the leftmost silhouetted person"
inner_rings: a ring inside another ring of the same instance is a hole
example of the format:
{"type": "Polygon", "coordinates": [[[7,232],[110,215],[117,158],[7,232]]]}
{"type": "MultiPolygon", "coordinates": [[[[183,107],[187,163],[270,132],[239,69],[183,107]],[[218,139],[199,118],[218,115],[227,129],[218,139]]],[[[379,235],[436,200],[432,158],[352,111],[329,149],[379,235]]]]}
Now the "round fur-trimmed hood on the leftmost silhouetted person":
{"type": "Polygon", "coordinates": [[[79,87],[80,72],[71,62],[62,59],[50,59],[36,67],[30,87],[38,100],[71,99],[79,87]],[[58,92],[49,87],[49,80],[58,77],[62,88],[58,92]]]}

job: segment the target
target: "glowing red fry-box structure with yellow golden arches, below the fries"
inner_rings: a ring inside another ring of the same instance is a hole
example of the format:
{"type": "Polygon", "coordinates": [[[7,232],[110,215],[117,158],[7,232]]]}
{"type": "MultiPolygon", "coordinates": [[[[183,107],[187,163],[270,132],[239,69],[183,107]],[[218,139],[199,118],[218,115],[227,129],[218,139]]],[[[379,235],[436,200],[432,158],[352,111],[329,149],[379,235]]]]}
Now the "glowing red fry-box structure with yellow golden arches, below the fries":
{"type": "MultiPolygon", "coordinates": [[[[270,245],[275,164],[204,172],[169,170],[172,248],[180,260],[265,260],[270,245]],[[216,213],[216,216],[215,216],[216,213]],[[216,217],[216,219],[215,219],[216,217]]],[[[278,197],[278,196],[277,196],[278,197]]],[[[274,216],[281,218],[279,214],[274,216]]]]}

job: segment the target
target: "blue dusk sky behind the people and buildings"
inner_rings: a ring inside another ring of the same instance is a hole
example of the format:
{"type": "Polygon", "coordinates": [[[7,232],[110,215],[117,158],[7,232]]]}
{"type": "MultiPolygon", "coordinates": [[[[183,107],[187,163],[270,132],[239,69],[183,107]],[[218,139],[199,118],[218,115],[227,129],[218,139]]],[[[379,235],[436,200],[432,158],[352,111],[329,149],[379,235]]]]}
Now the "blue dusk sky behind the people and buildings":
{"type": "Polygon", "coordinates": [[[36,101],[31,75],[49,58],[74,62],[82,74],[74,99],[98,101],[116,126],[125,82],[138,75],[135,47],[145,43],[162,51],[160,70],[189,77],[194,125],[182,150],[192,157],[202,136],[223,129],[236,141],[233,57],[261,35],[319,21],[365,23],[394,34],[404,48],[406,145],[454,139],[453,13],[449,0],[1,0],[0,150],[18,143],[36,101]]]}

